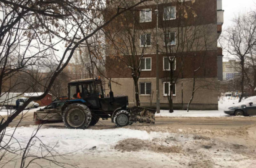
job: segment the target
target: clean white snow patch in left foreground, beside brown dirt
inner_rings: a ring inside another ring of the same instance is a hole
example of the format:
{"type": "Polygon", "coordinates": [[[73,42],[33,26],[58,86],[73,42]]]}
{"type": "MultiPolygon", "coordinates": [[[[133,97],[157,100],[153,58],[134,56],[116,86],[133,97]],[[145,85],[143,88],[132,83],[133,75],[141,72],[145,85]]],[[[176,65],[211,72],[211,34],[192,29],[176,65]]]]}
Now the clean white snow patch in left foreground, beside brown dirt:
{"type": "MultiPolygon", "coordinates": [[[[14,137],[18,139],[19,142],[28,142],[32,132],[36,128],[36,126],[17,128],[14,137]]],[[[13,128],[7,128],[6,132],[12,134],[13,130],[13,128]]],[[[104,130],[41,128],[37,132],[37,137],[39,137],[45,145],[49,147],[55,146],[54,150],[60,153],[86,153],[92,151],[92,149],[96,149],[98,152],[109,152],[114,150],[113,146],[115,143],[124,139],[136,138],[151,141],[154,138],[166,137],[167,135],[168,133],[148,133],[146,131],[125,128],[104,130]]],[[[8,139],[4,139],[4,141],[6,142],[8,139]]],[[[38,140],[34,143],[31,152],[37,152],[37,147],[40,144],[38,140]]],[[[18,144],[13,144],[12,147],[16,149],[19,146],[18,144]]]]}

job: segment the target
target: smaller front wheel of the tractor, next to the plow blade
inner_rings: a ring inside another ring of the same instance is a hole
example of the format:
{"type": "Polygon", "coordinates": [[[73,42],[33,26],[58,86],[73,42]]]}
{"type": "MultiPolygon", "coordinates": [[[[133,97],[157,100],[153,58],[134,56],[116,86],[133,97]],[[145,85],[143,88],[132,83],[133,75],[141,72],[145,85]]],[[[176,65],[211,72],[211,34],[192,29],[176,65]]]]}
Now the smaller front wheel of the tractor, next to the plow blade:
{"type": "Polygon", "coordinates": [[[115,113],[114,123],[117,127],[123,127],[129,124],[130,113],[126,110],[120,110],[115,113]]]}

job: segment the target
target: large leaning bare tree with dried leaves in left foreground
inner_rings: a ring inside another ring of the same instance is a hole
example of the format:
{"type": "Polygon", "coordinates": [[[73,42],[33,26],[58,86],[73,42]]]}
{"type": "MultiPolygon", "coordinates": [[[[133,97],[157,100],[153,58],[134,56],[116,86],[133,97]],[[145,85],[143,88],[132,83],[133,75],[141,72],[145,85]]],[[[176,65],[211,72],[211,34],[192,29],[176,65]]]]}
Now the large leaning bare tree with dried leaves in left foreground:
{"type": "MultiPolygon", "coordinates": [[[[23,92],[31,87],[32,90],[41,87],[43,94],[30,97],[17,110],[0,119],[0,151],[3,154],[0,161],[6,153],[11,152],[8,147],[11,146],[12,141],[5,139],[9,136],[6,134],[8,125],[23,113],[22,111],[31,101],[41,100],[51,91],[55,79],[68,65],[76,50],[86,47],[86,40],[117,16],[146,1],[142,0],[133,5],[123,1],[122,6],[117,6],[113,11],[106,8],[106,2],[101,0],[86,2],[80,0],[0,0],[0,94],[2,94],[3,86],[6,87],[5,92],[10,92],[16,86],[16,84],[10,84],[11,88],[7,88],[8,84],[4,85],[4,82],[8,81],[11,76],[21,72],[26,73],[28,70],[34,72],[34,69],[40,69],[39,67],[47,69],[45,62],[55,62],[54,70],[45,76],[44,82],[41,82],[41,79],[33,73],[27,73],[30,74],[32,85],[24,88],[23,92]],[[103,15],[108,17],[103,17],[103,15]]],[[[115,3],[115,1],[107,1],[107,3],[112,2],[115,3]]],[[[15,138],[13,134],[10,136],[11,139],[15,138]]],[[[34,137],[35,134],[32,135],[32,139],[34,137]]],[[[30,148],[30,142],[23,151],[21,167],[27,167],[24,161],[30,157],[27,150],[30,148]]],[[[41,158],[45,158],[44,156],[41,158]]]]}

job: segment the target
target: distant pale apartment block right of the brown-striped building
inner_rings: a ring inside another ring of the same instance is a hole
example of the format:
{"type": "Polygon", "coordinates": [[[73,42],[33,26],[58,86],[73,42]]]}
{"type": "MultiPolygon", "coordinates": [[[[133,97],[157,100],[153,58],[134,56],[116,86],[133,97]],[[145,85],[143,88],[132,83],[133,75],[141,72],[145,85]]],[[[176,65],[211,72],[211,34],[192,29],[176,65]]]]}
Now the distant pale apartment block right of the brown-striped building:
{"type": "Polygon", "coordinates": [[[234,79],[240,76],[239,72],[239,61],[229,60],[227,62],[223,62],[223,80],[228,81],[230,79],[234,79]]]}

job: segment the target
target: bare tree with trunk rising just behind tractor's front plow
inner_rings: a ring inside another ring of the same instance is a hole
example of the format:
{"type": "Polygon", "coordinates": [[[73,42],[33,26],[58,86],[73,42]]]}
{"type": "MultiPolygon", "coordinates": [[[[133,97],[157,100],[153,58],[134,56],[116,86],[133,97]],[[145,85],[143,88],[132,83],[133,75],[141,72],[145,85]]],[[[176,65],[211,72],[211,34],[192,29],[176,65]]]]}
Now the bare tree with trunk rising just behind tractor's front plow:
{"type": "MultiPolygon", "coordinates": [[[[122,67],[117,69],[125,68],[130,70],[131,77],[134,81],[136,106],[140,107],[138,82],[142,66],[144,69],[146,68],[146,60],[143,60],[144,53],[146,53],[147,46],[151,45],[152,42],[151,32],[146,32],[139,27],[140,21],[135,17],[135,11],[138,11],[138,9],[134,8],[120,15],[118,21],[121,23],[121,26],[115,27],[117,23],[113,22],[111,29],[107,29],[105,33],[107,42],[109,43],[108,47],[113,48],[110,58],[122,65],[122,67]],[[140,42],[138,42],[138,39],[140,39],[140,42]]],[[[113,70],[111,67],[108,68],[113,70]]]]}

